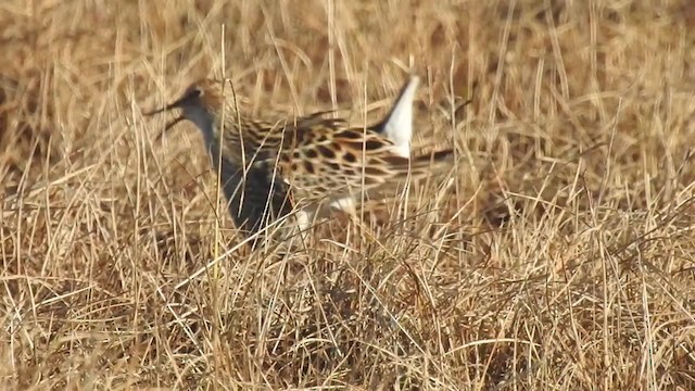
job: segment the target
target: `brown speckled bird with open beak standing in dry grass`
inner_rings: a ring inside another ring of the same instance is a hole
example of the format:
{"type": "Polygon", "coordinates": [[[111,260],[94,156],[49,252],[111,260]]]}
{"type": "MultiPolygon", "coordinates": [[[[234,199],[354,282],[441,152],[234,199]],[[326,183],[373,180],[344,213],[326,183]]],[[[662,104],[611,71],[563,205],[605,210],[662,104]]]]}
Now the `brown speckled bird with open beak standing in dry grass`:
{"type": "Polygon", "coordinates": [[[413,157],[413,102],[419,77],[402,87],[382,121],[351,126],[330,111],[273,121],[250,114],[229,79],[201,78],[146,116],[180,110],[159,138],[182,121],[203,136],[237,227],[253,235],[295,211],[305,231],[327,211],[355,216],[362,192],[451,167],[454,149],[413,157]]]}

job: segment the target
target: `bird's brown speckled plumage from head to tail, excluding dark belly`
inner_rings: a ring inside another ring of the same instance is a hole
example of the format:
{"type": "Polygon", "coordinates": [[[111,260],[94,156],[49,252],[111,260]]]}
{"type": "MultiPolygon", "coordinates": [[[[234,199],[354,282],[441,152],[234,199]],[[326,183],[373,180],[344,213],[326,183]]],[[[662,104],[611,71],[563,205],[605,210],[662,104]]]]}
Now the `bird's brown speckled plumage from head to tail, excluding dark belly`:
{"type": "MultiPolygon", "coordinates": [[[[452,150],[409,157],[410,106],[417,83],[414,78],[404,87],[402,96],[409,99],[399,100],[392,111],[391,116],[402,117],[402,124],[387,118],[366,129],[349,127],[344,119],[327,117],[327,112],[279,122],[254,118],[245,114],[231,84],[213,79],[193,83],[180,99],[149,115],[181,109],[182,114],[165,131],[182,119],[194,123],[218,171],[225,171],[226,162],[265,176],[268,192],[274,192],[266,197],[266,210],[274,218],[287,214],[287,202],[283,206],[274,203],[280,195],[287,200],[286,193],[291,192],[293,205],[307,211],[300,222],[304,228],[323,202],[351,209],[352,199],[362,191],[408,176],[427,177],[451,166],[452,150]],[[223,167],[217,164],[220,157],[223,167]]],[[[233,203],[233,194],[226,193],[233,203]]]]}

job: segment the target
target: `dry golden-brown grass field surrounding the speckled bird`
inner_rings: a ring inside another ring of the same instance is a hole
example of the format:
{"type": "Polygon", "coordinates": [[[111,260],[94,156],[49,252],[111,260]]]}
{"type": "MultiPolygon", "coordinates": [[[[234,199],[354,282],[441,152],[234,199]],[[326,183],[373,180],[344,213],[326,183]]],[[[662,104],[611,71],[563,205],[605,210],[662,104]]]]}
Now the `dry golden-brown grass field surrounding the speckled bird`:
{"type": "Polygon", "coordinates": [[[9,0],[0,49],[3,390],[695,389],[691,1],[9,0]],[[410,70],[458,164],[289,254],[142,116],[363,126],[410,70]]]}

